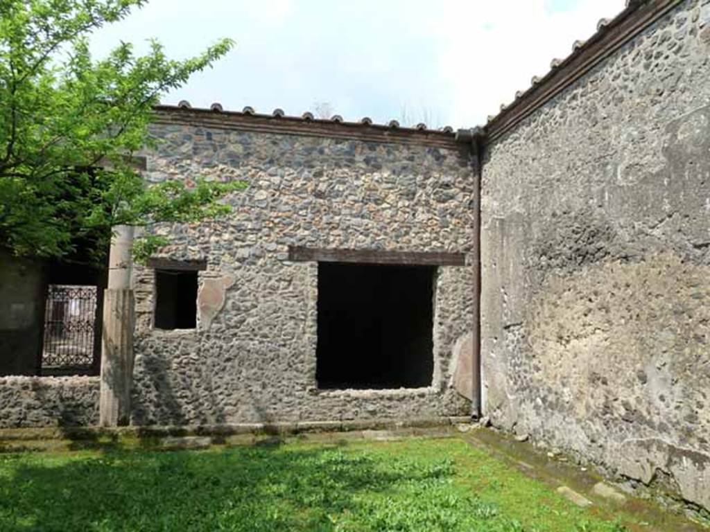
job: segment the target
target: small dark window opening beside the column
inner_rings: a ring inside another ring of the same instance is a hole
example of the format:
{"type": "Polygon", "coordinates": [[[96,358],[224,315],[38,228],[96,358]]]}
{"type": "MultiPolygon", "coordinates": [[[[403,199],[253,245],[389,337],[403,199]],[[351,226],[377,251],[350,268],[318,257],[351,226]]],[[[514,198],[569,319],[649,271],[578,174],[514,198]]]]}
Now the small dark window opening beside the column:
{"type": "Polygon", "coordinates": [[[197,326],[197,272],[155,270],[155,328],[197,326]]]}

